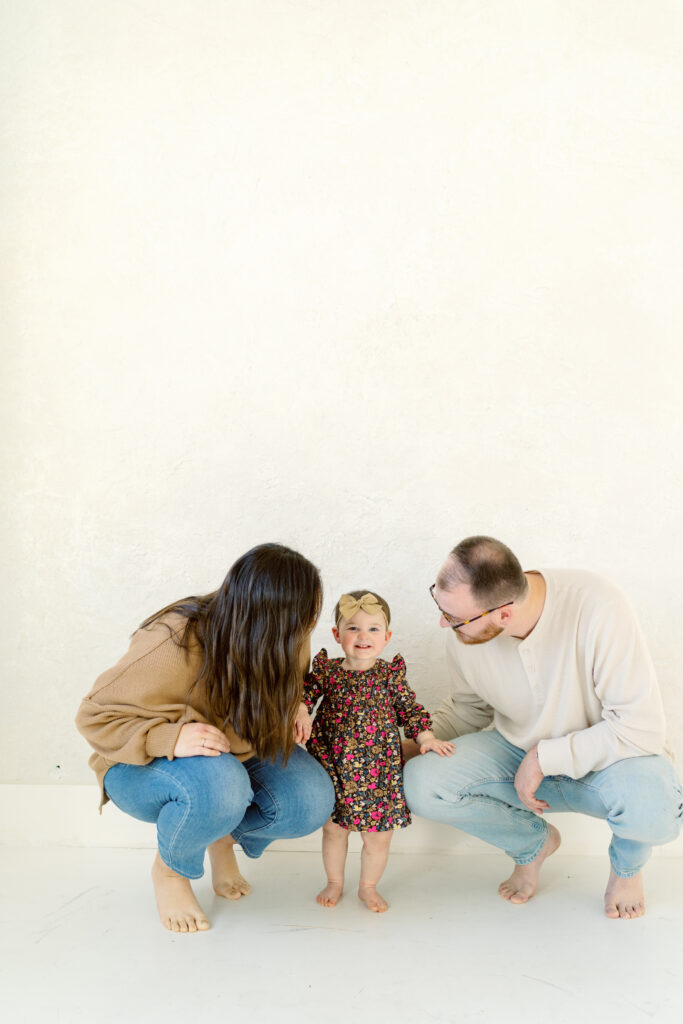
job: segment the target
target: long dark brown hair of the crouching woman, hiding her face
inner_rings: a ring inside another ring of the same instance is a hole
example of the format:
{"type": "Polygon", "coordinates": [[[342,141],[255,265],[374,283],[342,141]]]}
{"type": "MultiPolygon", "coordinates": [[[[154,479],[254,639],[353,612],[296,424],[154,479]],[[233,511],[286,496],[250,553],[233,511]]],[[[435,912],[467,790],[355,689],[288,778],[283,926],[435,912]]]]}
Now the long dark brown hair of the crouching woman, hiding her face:
{"type": "Polygon", "coordinates": [[[238,558],[218,590],[169,604],[140,629],[183,615],[177,642],[187,649],[197,639],[203,648],[194,685],[202,687],[214,724],[229,723],[257,757],[286,762],[302,698],[301,652],[322,603],[314,565],[281,544],[260,544],[238,558]]]}

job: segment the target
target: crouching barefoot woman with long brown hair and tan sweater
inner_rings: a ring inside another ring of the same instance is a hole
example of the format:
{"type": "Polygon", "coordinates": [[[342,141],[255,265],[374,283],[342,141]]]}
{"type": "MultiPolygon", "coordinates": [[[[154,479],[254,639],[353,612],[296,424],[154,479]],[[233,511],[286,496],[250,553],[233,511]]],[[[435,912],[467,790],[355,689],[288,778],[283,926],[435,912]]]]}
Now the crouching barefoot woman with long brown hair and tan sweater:
{"type": "Polygon", "coordinates": [[[82,701],[76,724],[108,800],[155,821],[153,881],[162,924],[209,928],[190,879],[209,851],[219,896],[250,891],[233,844],[258,857],[274,839],[305,836],[330,816],[327,772],[298,741],[318,617],[317,569],[279,544],[252,548],[220,588],[162,608],[82,701]]]}

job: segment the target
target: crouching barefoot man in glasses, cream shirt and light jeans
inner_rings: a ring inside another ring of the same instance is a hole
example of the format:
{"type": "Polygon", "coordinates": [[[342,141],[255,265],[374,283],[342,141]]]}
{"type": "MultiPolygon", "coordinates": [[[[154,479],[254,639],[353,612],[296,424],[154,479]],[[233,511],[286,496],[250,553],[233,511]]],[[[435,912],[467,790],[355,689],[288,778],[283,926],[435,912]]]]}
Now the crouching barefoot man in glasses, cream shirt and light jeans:
{"type": "Polygon", "coordinates": [[[604,818],[605,913],[641,916],[642,868],[653,844],[678,836],[683,796],[626,598],[592,572],[523,572],[489,537],[454,548],[430,591],[451,630],[452,690],[433,731],[460,738],[450,758],[415,757],[407,741],[409,806],[505,850],[515,867],[499,894],[512,903],[533,895],[560,845],[545,811],[604,818]]]}

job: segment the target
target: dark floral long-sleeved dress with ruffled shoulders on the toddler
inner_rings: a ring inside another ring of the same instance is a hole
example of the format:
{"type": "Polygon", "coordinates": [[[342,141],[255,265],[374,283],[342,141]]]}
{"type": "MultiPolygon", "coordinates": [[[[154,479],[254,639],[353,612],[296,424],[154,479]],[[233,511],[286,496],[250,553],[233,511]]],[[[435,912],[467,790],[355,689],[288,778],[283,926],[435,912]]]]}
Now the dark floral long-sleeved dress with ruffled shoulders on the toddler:
{"type": "Polygon", "coordinates": [[[335,786],[332,820],[353,831],[389,831],[411,823],[400,756],[401,725],[415,739],[431,719],[405,682],[405,663],[378,658],[372,669],[342,669],[343,658],[322,650],[304,682],[303,699],[315,714],[307,750],[335,786]]]}

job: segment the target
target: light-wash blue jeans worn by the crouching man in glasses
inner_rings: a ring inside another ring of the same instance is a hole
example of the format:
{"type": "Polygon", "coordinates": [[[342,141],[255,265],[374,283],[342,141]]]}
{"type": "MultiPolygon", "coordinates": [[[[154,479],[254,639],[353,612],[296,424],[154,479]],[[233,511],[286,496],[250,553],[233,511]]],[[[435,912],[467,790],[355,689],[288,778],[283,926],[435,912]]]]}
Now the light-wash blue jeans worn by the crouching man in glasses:
{"type": "MultiPolygon", "coordinates": [[[[514,788],[525,752],[500,732],[456,739],[456,753],[429,753],[405,765],[408,806],[416,814],[455,825],[505,850],[517,864],[538,857],[548,839],[545,819],[514,788]]],[[[547,775],[537,790],[550,810],[603,818],[612,830],[609,859],[628,879],[643,867],[653,845],[671,843],[681,828],[681,783],[668,758],[627,758],[583,778],[547,775]]]]}

